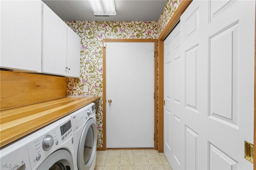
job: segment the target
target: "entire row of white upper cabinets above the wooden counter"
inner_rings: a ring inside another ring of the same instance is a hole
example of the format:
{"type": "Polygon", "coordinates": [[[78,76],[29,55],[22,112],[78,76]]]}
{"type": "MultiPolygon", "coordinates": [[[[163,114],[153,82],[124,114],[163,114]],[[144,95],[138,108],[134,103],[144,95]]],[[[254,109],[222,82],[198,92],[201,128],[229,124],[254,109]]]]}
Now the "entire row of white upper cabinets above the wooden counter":
{"type": "Polygon", "coordinates": [[[1,0],[0,67],[80,76],[80,37],[41,0],[1,0]]]}

